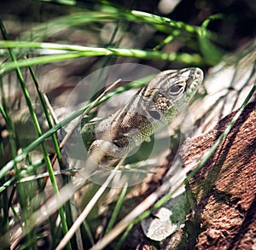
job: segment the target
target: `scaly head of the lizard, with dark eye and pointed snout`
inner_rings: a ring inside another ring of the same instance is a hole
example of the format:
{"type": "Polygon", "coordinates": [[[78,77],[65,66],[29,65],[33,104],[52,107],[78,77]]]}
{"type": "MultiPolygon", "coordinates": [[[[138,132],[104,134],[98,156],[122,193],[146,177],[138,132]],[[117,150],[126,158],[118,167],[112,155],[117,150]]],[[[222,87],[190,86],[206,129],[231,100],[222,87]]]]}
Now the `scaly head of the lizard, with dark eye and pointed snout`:
{"type": "Polygon", "coordinates": [[[203,72],[198,67],[181,70],[166,70],[157,74],[143,88],[143,101],[148,103],[149,113],[159,113],[157,117],[179,110],[183,103],[195,95],[203,80],[203,72]]]}

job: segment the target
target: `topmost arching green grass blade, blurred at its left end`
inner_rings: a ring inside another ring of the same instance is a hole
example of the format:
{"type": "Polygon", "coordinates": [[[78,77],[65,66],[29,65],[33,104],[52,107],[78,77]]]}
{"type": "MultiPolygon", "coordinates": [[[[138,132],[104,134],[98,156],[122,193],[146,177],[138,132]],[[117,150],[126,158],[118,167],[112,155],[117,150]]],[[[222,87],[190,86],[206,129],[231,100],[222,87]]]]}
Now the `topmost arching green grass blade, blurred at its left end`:
{"type": "MultiPolygon", "coordinates": [[[[106,8],[106,5],[98,5],[97,10],[99,11],[86,10],[84,12],[69,14],[55,18],[54,20],[49,20],[47,23],[37,26],[31,31],[21,35],[20,40],[44,40],[45,37],[54,35],[56,31],[60,32],[61,30],[81,24],[111,20],[125,20],[148,24],[149,26],[154,26],[154,28],[160,32],[166,32],[166,34],[172,34],[173,30],[196,34],[201,30],[201,27],[198,26],[192,26],[182,21],[172,20],[143,11],[127,10],[113,6],[107,6],[106,8]],[[34,38],[32,37],[33,34],[36,34],[34,38]]],[[[219,41],[219,37],[210,31],[207,31],[207,37],[217,42],[219,41]]]]}

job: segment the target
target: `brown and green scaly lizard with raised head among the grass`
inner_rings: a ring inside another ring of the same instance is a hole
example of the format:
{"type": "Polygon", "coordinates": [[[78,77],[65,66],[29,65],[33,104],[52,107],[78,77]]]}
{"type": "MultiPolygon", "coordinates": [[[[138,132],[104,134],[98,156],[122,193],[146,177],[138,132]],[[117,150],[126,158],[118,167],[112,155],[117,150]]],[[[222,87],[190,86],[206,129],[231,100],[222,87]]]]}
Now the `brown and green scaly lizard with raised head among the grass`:
{"type": "Polygon", "coordinates": [[[91,159],[100,163],[127,156],[172,121],[202,80],[203,72],[198,67],[166,70],[108,118],[91,122],[83,118],[79,132],[91,159]]]}

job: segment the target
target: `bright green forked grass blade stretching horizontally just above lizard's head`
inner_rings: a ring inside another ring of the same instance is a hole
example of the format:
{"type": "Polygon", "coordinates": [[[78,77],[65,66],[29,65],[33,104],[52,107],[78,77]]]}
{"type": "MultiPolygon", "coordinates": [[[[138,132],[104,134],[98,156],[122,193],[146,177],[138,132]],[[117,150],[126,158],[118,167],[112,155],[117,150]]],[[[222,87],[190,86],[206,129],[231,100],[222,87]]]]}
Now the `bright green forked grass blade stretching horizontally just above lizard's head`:
{"type": "MultiPolygon", "coordinates": [[[[34,48],[34,49],[55,49],[65,50],[65,54],[58,55],[44,55],[33,57],[27,60],[19,60],[14,62],[7,61],[0,66],[0,74],[8,73],[15,69],[16,66],[32,67],[35,65],[42,65],[55,61],[63,61],[69,59],[75,59],[80,57],[91,57],[91,56],[102,56],[102,55],[115,55],[123,57],[134,57],[139,59],[148,60],[160,60],[160,61],[180,61],[186,64],[202,65],[203,60],[200,55],[189,54],[189,53],[164,53],[153,50],[143,49],[117,49],[117,48],[96,48],[96,47],[85,47],[78,45],[68,44],[50,44],[50,43],[35,43],[35,42],[14,42],[14,41],[0,41],[0,47],[2,48],[34,48]],[[67,53],[72,51],[72,53],[67,53]]],[[[63,51],[62,51],[63,53],[63,51]]]]}

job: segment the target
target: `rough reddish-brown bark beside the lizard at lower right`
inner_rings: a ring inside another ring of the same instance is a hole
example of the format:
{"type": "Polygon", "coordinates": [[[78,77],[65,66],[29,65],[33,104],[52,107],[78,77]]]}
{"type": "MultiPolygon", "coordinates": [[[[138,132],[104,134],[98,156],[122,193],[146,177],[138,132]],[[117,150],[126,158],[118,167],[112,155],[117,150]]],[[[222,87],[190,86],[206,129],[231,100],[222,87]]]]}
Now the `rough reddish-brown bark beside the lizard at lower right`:
{"type": "MultiPolygon", "coordinates": [[[[255,107],[256,102],[247,105],[229,135],[189,181],[193,210],[185,230],[190,249],[256,247],[255,107]]],[[[235,113],[192,141],[191,150],[183,155],[185,166],[212,147],[235,113]]]]}

